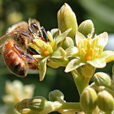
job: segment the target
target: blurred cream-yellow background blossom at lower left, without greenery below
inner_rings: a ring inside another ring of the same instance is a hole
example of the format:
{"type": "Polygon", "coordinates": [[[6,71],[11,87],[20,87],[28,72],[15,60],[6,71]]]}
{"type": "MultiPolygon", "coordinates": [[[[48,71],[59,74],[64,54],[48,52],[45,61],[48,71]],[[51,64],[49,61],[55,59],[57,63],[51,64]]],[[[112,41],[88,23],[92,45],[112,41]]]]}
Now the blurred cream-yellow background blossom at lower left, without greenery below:
{"type": "Polygon", "coordinates": [[[20,81],[15,80],[13,83],[6,82],[6,93],[3,97],[3,101],[6,104],[16,104],[22,99],[27,99],[33,96],[34,86],[23,85],[20,81]]]}

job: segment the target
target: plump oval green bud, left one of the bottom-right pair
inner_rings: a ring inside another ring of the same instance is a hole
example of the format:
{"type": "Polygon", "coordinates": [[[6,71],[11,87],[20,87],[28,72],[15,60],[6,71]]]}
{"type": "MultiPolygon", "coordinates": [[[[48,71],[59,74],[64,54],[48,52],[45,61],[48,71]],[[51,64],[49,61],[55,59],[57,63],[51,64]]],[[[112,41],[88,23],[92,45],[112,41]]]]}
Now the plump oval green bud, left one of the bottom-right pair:
{"type": "Polygon", "coordinates": [[[80,96],[80,103],[81,107],[85,112],[91,112],[96,107],[97,101],[97,94],[94,89],[86,88],[81,96],[80,96]]]}

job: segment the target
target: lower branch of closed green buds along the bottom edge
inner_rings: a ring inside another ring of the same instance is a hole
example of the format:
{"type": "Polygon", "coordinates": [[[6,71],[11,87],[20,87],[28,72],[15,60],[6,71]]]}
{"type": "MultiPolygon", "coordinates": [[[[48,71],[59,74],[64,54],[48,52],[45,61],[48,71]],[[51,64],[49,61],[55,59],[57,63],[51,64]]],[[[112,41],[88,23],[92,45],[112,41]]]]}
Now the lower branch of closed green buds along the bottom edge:
{"type": "Polygon", "coordinates": [[[59,90],[49,93],[49,101],[44,97],[37,96],[24,99],[15,107],[22,114],[47,114],[53,111],[61,114],[75,114],[83,111],[92,114],[113,114],[114,91],[113,81],[109,75],[103,72],[94,74],[94,82],[86,87],[80,95],[80,103],[66,102],[64,94],[59,90]]]}

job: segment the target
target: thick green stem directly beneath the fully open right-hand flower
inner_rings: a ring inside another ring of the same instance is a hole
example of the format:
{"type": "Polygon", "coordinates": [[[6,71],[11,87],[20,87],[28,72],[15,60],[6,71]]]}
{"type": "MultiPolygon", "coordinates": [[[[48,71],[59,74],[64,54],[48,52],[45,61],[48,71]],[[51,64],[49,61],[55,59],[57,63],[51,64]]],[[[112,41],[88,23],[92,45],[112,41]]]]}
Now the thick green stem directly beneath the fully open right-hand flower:
{"type": "Polygon", "coordinates": [[[72,75],[74,78],[74,82],[77,86],[78,92],[79,92],[79,94],[81,94],[83,92],[83,90],[88,86],[90,79],[80,76],[80,74],[78,74],[75,71],[72,72],[72,75]]]}

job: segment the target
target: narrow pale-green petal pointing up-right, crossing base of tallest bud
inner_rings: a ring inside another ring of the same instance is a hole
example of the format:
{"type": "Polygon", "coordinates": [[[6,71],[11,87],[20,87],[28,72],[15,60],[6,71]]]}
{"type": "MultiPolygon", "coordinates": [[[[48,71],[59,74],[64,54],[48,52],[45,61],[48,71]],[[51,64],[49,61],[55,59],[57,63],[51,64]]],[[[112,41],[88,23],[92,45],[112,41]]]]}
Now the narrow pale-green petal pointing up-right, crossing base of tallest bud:
{"type": "Polygon", "coordinates": [[[68,29],[65,32],[63,32],[62,34],[60,34],[59,36],[56,37],[55,39],[55,47],[57,47],[57,45],[62,42],[68,35],[68,33],[71,31],[72,29],[68,29]]]}

